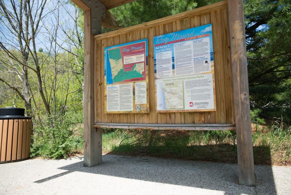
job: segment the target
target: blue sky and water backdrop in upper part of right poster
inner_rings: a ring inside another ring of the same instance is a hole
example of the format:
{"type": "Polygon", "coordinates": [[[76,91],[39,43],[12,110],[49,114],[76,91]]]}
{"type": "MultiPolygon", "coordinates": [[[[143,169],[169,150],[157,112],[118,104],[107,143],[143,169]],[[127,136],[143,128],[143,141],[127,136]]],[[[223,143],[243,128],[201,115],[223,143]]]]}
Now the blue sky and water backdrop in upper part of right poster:
{"type": "MultiPolygon", "coordinates": [[[[155,73],[156,73],[156,54],[159,52],[164,52],[166,51],[172,51],[172,62],[173,62],[173,69],[175,69],[175,54],[174,54],[174,44],[176,43],[170,43],[171,41],[177,41],[180,39],[187,39],[190,37],[194,36],[200,36],[204,34],[209,34],[210,37],[210,57],[211,61],[213,61],[213,41],[212,41],[212,24],[207,24],[199,27],[194,27],[190,29],[185,29],[177,32],[172,32],[168,34],[163,34],[160,36],[155,36],[154,37],[154,66],[155,66],[155,73]],[[162,44],[162,46],[156,46],[158,44],[162,44]]],[[[199,39],[199,38],[197,38],[199,39]]],[[[194,39],[192,39],[194,40],[194,39]]],[[[186,41],[192,41],[192,40],[185,40],[181,42],[186,42],[186,41]]]]}

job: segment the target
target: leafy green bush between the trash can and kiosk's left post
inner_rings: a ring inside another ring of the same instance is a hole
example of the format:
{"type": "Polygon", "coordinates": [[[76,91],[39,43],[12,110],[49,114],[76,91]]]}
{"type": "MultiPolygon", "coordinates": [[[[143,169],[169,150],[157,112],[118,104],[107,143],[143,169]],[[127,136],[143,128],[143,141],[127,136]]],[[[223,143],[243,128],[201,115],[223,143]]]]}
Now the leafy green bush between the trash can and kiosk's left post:
{"type": "Polygon", "coordinates": [[[48,117],[45,124],[36,130],[42,137],[34,142],[31,156],[60,159],[76,152],[83,144],[83,135],[78,132],[76,118],[76,114],[72,113],[48,117]]]}

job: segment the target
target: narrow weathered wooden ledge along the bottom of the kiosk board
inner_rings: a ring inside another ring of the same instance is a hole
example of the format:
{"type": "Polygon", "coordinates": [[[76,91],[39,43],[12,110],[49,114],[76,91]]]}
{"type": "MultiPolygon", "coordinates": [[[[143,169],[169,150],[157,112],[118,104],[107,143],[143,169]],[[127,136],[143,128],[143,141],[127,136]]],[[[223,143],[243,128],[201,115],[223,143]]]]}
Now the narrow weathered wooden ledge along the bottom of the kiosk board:
{"type": "Polygon", "coordinates": [[[235,131],[235,124],[135,124],[95,123],[95,128],[148,129],[148,130],[227,130],[235,131]]]}

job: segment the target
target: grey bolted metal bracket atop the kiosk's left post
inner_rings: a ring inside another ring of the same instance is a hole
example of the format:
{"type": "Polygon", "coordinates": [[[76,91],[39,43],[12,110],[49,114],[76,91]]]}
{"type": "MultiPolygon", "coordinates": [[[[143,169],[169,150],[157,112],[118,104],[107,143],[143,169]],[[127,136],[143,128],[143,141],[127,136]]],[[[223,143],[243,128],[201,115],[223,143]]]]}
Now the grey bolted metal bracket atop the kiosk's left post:
{"type": "Polygon", "coordinates": [[[91,8],[91,32],[102,33],[102,18],[106,19],[106,8],[98,0],[83,0],[91,8]],[[101,18],[102,17],[102,18],[101,18]]]}

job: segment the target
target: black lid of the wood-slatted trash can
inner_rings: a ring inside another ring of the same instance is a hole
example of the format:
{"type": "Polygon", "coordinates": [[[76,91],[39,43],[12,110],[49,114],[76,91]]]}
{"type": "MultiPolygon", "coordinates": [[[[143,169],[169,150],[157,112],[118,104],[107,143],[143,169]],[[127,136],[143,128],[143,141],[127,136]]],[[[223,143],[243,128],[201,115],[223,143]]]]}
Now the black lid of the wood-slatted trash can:
{"type": "Polygon", "coordinates": [[[24,108],[0,108],[0,119],[31,119],[24,111],[24,108]]]}

